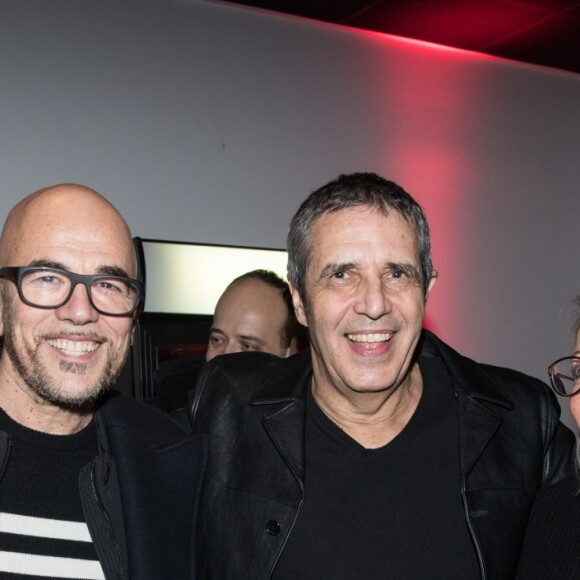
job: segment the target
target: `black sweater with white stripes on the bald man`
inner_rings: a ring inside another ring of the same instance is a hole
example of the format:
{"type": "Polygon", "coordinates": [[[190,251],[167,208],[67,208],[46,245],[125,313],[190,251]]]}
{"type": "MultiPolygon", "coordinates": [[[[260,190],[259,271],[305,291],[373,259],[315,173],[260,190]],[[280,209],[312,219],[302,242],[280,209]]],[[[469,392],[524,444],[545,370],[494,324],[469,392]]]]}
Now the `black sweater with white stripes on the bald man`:
{"type": "Polygon", "coordinates": [[[79,473],[97,455],[91,422],[73,435],[27,429],[0,409],[10,435],[0,479],[0,578],[100,578],[83,514],[79,473]]]}

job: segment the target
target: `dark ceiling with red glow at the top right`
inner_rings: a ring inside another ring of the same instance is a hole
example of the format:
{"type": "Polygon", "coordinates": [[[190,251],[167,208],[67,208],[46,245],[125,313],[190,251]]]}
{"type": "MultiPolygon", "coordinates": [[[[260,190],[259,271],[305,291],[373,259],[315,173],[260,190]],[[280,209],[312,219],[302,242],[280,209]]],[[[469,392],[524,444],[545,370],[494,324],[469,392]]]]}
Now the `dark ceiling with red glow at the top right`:
{"type": "Polygon", "coordinates": [[[580,0],[233,0],[580,73],[580,0]]]}

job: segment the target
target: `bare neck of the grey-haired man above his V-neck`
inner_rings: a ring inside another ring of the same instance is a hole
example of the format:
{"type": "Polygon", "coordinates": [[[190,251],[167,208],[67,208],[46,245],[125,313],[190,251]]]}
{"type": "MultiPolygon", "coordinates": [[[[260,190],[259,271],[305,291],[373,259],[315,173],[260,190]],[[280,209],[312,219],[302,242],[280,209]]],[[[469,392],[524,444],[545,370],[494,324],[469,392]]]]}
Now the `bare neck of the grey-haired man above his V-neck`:
{"type": "Polygon", "coordinates": [[[352,393],[322,389],[312,379],[312,394],[323,413],[366,449],[392,441],[407,425],[423,393],[423,379],[415,364],[408,380],[393,392],[352,393]]]}

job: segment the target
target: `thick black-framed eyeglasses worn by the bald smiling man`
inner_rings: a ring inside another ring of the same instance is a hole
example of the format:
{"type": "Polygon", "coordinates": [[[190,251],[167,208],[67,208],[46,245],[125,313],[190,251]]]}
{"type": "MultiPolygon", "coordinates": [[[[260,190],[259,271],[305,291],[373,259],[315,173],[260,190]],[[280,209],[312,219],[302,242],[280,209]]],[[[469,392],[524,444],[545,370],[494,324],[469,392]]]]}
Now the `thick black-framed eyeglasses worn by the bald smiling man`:
{"type": "Polygon", "coordinates": [[[13,281],[22,302],[35,308],[60,308],[82,284],[91,306],[107,316],[133,314],[143,298],[143,282],[124,276],[83,275],[43,266],[0,268],[0,278],[13,281]]]}

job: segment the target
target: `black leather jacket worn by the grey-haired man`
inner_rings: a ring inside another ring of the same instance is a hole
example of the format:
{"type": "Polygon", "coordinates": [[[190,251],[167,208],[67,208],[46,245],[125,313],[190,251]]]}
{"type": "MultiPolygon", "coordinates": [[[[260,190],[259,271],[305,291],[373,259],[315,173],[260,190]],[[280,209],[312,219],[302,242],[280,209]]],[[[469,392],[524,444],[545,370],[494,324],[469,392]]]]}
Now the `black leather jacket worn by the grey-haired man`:
{"type": "MultiPolygon", "coordinates": [[[[440,357],[459,420],[461,494],[483,580],[513,578],[539,486],[572,473],[572,433],[541,381],[480,365],[424,331],[419,356],[440,357]]],[[[310,354],[217,357],[192,392],[193,431],[209,435],[200,506],[203,580],[265,580],[302,505],[310,354]]]]}

